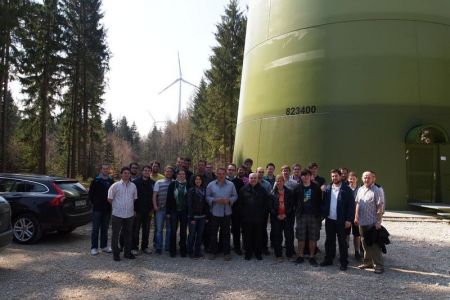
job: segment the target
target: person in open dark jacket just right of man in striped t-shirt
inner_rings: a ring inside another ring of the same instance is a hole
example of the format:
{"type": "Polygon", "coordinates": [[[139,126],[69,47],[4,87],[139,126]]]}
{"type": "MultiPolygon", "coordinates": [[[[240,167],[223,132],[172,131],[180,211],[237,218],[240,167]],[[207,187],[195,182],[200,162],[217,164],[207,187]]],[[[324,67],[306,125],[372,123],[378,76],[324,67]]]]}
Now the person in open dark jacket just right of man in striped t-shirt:
{"type": "Polygon", "coordinates": [[[166,215],[170,218],[170,256],[177,254],[177,229],[180,224],[180,255],[186,257],[187,236],[187,192],[186,173],[178,171],[177,180],[172,181],[167,189],[166,215]]]}

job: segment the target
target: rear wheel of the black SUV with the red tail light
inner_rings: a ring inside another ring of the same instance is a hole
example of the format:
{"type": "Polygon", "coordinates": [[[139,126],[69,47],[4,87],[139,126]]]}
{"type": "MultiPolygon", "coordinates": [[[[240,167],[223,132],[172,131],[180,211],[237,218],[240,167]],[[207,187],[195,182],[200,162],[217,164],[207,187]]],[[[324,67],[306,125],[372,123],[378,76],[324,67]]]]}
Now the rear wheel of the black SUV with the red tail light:
{"type": "Polygon", "coordinates": [[[19,244],[32,244],[42,237],[42,228],[32,215],[17,216],[13,222],[14,241],[19,244]]]}

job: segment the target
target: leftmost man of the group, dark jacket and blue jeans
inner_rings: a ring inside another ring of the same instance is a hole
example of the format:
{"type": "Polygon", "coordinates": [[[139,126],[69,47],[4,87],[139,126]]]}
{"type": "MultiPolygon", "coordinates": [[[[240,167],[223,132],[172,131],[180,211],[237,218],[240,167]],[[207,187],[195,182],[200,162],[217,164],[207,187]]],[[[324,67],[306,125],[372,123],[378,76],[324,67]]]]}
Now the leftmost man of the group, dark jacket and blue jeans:
{"type": "Polygon", "coordinates": [[[108,189],[113,184],[109,176],[109,166],[103,164],[100,174],[92,180],[89,187],[89,201],[92,203],[92,233],[91,233],[91,255],[97,255],[98,233],[100,231],[100,248],[103,252],[111,253],[108,247],[108,228],[111,219],[111,204],[108,202],[108,189]]]}

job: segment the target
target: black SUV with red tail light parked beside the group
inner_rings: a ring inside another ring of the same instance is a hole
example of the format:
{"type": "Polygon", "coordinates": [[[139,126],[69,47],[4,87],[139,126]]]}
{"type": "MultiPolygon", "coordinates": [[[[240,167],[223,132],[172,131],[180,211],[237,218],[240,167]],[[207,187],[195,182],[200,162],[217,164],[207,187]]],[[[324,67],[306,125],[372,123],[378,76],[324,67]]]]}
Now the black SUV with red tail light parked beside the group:
{"type": "Polygon", "coordinates": [[[14,241],[21,244],[48,231],[70,233],[92,218],[88,192],[74,179],[0,173],[0,196],[11,205],[14,241]]]}

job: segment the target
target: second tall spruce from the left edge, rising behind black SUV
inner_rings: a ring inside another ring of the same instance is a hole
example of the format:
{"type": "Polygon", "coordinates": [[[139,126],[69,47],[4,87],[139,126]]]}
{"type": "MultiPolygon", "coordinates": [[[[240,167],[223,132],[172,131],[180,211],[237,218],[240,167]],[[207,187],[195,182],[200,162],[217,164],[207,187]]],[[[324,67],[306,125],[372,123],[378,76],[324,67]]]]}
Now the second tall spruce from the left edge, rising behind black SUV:
{"type": "Polygon", "coordinates": [[[62,18],[57,0],[34,3],[24,19],[21,42],[24,52],[20,65],[25,116],[34,149],[31,157],[38,159],[38,172],[47,168],[47,133],[57,96],[62,86],[62,18]]]}

